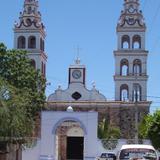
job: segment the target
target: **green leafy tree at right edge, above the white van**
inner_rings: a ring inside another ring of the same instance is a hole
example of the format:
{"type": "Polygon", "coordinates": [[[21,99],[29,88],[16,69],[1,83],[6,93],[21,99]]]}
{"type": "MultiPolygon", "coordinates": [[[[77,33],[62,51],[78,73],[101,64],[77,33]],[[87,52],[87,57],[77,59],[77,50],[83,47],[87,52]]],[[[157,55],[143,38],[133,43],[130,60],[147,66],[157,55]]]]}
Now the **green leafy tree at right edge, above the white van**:
{"type": "Polygon", "coordinates": [[[147,115],[139,127],[142,138],[149,138],[156,149],[160,149],[160,110],[153,115],[147,115]]]}

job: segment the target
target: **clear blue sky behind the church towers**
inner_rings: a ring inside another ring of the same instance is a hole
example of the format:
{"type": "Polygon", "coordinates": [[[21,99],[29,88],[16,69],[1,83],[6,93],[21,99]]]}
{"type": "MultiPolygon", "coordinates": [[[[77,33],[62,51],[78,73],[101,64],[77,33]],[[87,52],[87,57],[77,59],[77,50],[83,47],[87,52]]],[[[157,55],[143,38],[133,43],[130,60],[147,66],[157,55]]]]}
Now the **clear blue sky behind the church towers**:
{"type": "MultiPolygon", "coordinates": [[[[0,42],[13,48],[13,26],[23,10],[24,0],[1,0],[0,42]]],[[[68,67],[74,64],[79,46],[81,63],[87,68],[87,88],[96,88],[114,100],[114,55],[117,49],[116,25],[124,0],[39,0],[46,27],[46,95],[58,85],[68,87],[68,67]]],[[[151,111],[160,106],[160,0],[140,0],[147,25],[148,100],[151,111]]]]}

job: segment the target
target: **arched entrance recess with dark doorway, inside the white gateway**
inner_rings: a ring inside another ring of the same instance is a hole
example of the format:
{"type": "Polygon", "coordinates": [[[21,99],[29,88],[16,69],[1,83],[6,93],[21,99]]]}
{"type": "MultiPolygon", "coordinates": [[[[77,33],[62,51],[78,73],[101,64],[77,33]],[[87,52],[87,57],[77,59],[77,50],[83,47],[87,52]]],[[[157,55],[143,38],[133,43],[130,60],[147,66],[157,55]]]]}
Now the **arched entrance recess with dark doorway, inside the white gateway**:
{"type": "Polygon", "coordinates": [[[83,160],[84,134],[82,124],[76,120],[64,120],[56,129],[56,159],[83,160]]]}

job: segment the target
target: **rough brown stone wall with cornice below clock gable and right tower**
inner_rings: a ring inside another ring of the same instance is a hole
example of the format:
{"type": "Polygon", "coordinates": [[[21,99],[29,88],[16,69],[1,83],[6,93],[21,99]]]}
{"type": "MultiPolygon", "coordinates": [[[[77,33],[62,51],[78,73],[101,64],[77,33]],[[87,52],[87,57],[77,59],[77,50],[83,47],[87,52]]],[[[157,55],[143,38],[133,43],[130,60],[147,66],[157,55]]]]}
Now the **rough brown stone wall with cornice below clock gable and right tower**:
{"type": "Polygon", "coordinates": [[[66,111],[72,106],[75,112],[97,111],[98,122],[107,118],[112,126],[119,127],[121,138],[132,139],[135,137],[135,111],[137,107],[138,122],[149,113],[150,102],[74,102],[74,103],[48,103],[47,108],[54,111],[66,111]]]}

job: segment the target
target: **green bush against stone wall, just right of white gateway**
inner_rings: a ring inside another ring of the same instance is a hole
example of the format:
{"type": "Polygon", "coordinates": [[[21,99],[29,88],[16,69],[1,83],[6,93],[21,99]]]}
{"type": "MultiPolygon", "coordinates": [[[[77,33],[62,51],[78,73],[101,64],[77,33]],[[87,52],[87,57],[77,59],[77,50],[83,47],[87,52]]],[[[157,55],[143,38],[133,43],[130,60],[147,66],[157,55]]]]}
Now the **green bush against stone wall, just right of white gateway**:
{"type": "Polygon", "coordinates": [[[120,129],[109,125],[108,121],[103,119],[98,125],[98,137],[100,139],[119,139],[120,129]]]}

